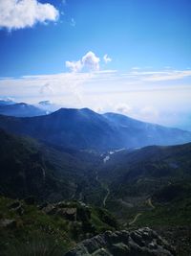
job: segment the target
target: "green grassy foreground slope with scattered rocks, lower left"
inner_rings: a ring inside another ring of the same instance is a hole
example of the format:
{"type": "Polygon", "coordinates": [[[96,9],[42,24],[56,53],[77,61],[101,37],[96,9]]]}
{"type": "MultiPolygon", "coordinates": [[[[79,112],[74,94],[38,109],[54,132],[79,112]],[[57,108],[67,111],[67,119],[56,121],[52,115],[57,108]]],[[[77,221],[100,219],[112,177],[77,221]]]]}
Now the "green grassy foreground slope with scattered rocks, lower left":
{"type": "Polygon", "coordinates": [[[39,253],[29,255],[63,255],[76,242],[116,228],[106,210],[77,201],[37,206],[0,198],[1,255],[28,255],[27,249],[39,253]]]}

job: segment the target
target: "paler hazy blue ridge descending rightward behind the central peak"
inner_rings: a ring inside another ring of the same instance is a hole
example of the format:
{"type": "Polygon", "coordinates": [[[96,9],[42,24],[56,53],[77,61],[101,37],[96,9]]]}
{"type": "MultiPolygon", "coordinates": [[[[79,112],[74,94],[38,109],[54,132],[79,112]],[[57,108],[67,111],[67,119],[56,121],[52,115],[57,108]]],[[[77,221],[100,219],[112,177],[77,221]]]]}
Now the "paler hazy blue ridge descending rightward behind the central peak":
{"type": "Polygon", "coordinates": [[[191,133],[178,128],[165,128],[117,113],[106,113],[104,117],[120,129],[124,144],[130,144],[134,148],[148,145],[175,145],[191,141],[191,133]]]}

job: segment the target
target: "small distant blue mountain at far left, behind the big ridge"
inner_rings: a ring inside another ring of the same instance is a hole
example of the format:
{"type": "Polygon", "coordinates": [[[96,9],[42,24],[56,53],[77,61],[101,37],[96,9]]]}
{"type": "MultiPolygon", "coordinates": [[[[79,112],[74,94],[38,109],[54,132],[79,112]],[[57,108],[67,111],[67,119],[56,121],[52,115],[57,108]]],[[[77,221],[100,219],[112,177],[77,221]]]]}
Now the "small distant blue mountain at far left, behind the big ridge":
{"type": "Polygon", "coordinates": [[[16,117],[32,117],[46,115],[47,112],[34,105],[19,103],[11,105],[0,105],[0,114],[16,117]]]}

